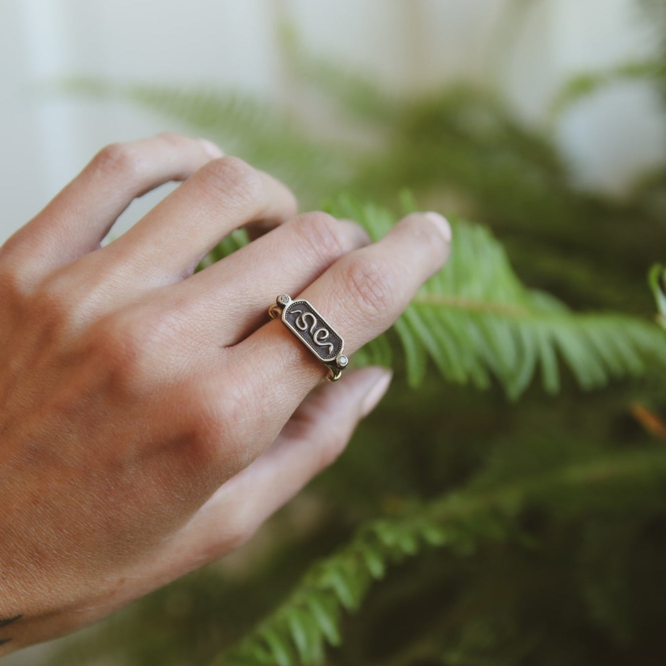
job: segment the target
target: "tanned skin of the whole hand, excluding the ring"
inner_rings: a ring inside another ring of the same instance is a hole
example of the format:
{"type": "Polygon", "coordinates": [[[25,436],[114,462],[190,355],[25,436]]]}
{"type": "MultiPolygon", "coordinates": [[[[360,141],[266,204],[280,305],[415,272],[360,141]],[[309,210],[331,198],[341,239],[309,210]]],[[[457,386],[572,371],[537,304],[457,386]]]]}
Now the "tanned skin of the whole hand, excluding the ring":
{"type": "Polygon", "coordinates": [[[448,256],[412,214],[370,244],[212,144],[103,149],[0,248],[0,655],[244,543],[346,446],[390,380],[325,368],[266,310],[307,298],[352,354],[448,256]],[[101,247],[143,192],[184,180],[101,247]],[[248,246],[194,275],[234,228],[248,246]]]}

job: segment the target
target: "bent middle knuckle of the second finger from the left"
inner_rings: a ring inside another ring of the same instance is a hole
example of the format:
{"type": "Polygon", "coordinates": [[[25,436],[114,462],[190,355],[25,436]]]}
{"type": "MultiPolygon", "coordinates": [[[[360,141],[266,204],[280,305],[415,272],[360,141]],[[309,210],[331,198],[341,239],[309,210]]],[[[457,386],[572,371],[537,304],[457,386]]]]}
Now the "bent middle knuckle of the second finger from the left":
{"type": "Polygon", "coordinates": [[[264,206],[264,181],[261,174],[238,157],[220,157],[201,169],[204,190],[224,198],[243,210],[259,212],[264,206]]]}

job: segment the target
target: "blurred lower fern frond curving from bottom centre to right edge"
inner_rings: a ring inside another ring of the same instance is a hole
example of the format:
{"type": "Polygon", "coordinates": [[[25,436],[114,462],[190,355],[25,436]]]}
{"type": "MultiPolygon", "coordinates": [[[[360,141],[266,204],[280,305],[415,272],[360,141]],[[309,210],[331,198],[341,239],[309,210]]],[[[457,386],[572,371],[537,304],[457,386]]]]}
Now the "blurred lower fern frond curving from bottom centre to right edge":
{"type": "Polygon", "coordinates": [[[414,505],[399,517],[363,525],[348,545],[318,561],[288,599],[214,666],[295,666],[322,663],[326,645],[341,641],[343,611],[354,611],[389,565],[426,546],[468,553],[483,541],[507,539],[528,503],[547,501],[603,484],[647,478],[663,481],[666,455],[648,449],[565,464],[505,484],[479,484],[458,494],[414,505]]]}

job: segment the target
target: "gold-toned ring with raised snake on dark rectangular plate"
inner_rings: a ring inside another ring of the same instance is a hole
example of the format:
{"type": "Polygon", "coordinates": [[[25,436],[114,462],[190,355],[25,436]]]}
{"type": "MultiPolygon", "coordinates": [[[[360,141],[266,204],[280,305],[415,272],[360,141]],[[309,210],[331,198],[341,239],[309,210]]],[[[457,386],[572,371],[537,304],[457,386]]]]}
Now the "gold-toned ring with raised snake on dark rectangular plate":
{"type": "Polygon", "coordinates": [[[342,353],[344,340],[308,301],[292,300],[289,294],[280,294],[275,305],[268,308],[268,314],[273,319],[279,318],[328,368],[326,379],[330,382],[340,379],[342,370],[349,365],[349,359],[342,353]]]}

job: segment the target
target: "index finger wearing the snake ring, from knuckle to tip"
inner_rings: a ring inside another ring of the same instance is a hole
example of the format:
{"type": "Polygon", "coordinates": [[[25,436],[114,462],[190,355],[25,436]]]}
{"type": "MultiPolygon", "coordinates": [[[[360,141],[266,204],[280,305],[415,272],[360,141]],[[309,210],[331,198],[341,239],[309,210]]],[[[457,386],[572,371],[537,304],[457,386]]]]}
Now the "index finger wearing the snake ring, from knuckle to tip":
{"type": "MultiPolygon", "coordinates": [[[[343,256],[298,297],[317,308],[344,338],[346,352],[353,353],[402,314],[416,290],[442,268],[450,242],[451,228],[442,216],[412,214],[379,242],[343,256]]],[[[276,284],[276,292],[281,291],[276,284]]],[[[230,352],[225,376],[238,382],[220,382],[213,365],[202,390],[214,401],[211,411],[223,420],[227,410],[238,414],[241,405],[243,413],[257,415],[261,427],[256,419],[246,420],[248,428],[237,423],[234,441],[226,442],[243,460],[251,460],[278,435],[326,368],[279,320],[264,324],[230,352]]]]}

